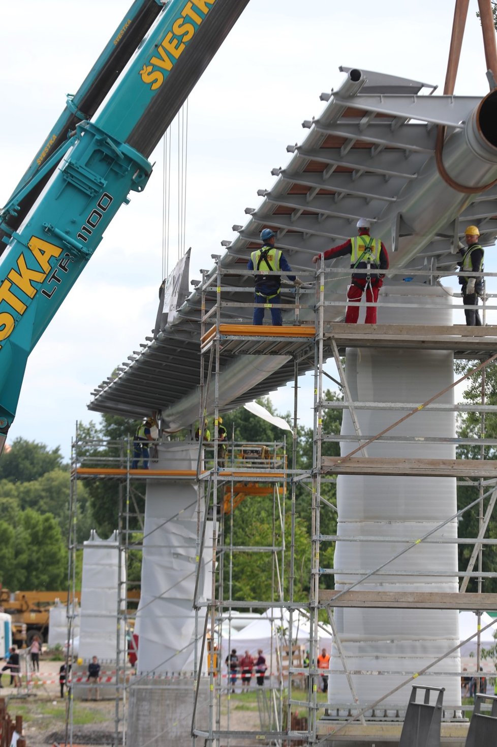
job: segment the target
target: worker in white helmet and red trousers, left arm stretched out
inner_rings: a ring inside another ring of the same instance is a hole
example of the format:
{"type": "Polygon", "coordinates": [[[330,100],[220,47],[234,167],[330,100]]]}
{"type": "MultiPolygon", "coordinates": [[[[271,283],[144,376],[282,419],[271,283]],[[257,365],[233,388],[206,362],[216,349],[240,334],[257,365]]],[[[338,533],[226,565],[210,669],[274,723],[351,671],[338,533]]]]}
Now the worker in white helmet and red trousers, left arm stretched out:
{"type": "Polygon", "coordinates": [[[360,218],[357,220],[358,236],[349,238],[348,241],[338,247],[327,249],[323,255],[316,254],[313,256],[313,263],[316,264],[322,256],[325,259],[334,259],[350,254],[351,270],[368,270],[367,273],[352,273],[347,299],[357,302],[357,304],[347,307],[346,322],[349,324],[357,324],[359,318],[358,302],[363,297],[364,291],[366,291],[366,303],[375,304],[375,306],[366,307],[366,324],[376,323],[376,304],[378,303],[378,293],[383,285],[384,273],[375,272],[370,275],[369,270],[388,269],[387,249],[383,241],[369,235],[370,229],[371,223],[369,223],[369,220],[360,218]]]}

